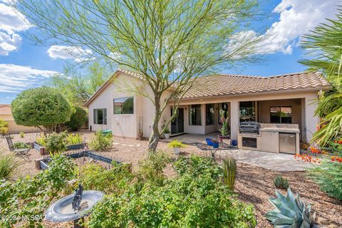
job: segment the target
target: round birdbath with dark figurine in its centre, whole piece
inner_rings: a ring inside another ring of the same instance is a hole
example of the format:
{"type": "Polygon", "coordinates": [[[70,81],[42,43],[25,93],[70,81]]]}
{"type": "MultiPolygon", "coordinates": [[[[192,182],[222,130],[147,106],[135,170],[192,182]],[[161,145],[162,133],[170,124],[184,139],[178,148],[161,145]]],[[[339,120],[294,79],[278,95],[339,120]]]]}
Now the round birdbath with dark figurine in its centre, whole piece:
{"type": "Polygon", "coordinates": [[[51,222],[73,221],[74,228],[81,228],[78,222],[91,213],[95,204],[103,199],[105,194],[100,191],[83,191],[78,185],[75,194],[58,199],[46,210],[46,220],[51,222]]]}

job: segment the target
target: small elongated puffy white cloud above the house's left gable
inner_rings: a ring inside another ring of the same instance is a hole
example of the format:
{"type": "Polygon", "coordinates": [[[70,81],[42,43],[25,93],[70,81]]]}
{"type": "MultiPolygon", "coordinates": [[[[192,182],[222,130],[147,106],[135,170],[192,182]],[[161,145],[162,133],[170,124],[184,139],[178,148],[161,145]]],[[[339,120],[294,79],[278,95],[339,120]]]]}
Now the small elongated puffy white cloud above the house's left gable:
{"type": "Polygon", "coordinates": [[[92,54],[93,51],[90,49],[83,49],[77,46],[53,45],[48,48],[48,56],[51,58],[74,59],[78,63],[89,60],[92,54]]]}

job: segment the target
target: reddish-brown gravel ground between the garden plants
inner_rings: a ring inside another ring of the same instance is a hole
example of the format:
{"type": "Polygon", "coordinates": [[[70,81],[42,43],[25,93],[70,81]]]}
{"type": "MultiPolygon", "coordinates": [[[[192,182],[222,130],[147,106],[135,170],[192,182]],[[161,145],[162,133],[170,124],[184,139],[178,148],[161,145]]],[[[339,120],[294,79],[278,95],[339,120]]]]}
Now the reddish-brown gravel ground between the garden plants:
{"type": "MultiPolygon", "coordinates": [[[[93,133],[81,133],[86,141],[91,140],[93,137],[93,133]]],[[[26,134],[25,138],[20,138],[19,135],[13,136],[13,142],[33,142],[36,140],[38,133],[26,134]]],[[[166,142],[160,142],[158,149],[169,152],[170,155],[175,158],[175,155],[172,154],[172,150],[167,148],[166,142]]],[[[204,152],[192,145],[188,145],[182,150],[184,150],[184,155],[190,155],[192,153],[205,155],[204,152]]],[[[0,154],[1,153],[9,153],[6,140],[4,139],[0,140],[0,154]]],[[[133,170],[136,170],[138,160],[141,160],[147,155],[147,140],[139,141],[115,137],[113,149],[99,153],[110,157],[120,158],[123,162],[132,162],[133,170]]],[[[34,160],[39,157],[41,156],[36,150],[31,150],[28,152],[27,161],[18,158],[21,165],[17,172],[17,176],[33,175],[36,172],[39,172],[33,168],[34,160]]],[[[278,173],[289,179],[291,189],[294,192],[299,192],[302,199],[313,204],[313,208],[321,221],[328,220],[326,221],[326,224],[331,224],[331,227],[342,227],[342,202],[328,197],[324,192],[321,192],[318,186],[306,177],[305,172],[275,172],[253,165],[238,163],[235,192],[239,199],[254,205],[258,222],[257,227],[272,227],[264,218],[264,214],[272,209],[267,198],[274,197],[275,189],[273,180],[278,173]]],[[[175,172],[169,166],[165,169],[165,175],[172,177],[175,175],[175,172]]],[[[71,227],[71,223],[57,225],[46,222],[46,227],[71,227]]]]}

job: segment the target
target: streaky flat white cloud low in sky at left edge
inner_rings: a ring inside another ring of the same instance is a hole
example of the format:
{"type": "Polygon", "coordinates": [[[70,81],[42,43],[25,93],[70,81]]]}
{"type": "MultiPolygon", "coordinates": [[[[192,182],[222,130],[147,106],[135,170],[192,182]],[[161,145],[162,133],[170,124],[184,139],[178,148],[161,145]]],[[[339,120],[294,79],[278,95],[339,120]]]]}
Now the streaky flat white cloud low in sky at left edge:
{"type": "Polygon", "coordinates": [[[56,73],[58,72],[38,70],[31,66],[0,64],[0,92],[18,93],[36,86],[56,73]]]}

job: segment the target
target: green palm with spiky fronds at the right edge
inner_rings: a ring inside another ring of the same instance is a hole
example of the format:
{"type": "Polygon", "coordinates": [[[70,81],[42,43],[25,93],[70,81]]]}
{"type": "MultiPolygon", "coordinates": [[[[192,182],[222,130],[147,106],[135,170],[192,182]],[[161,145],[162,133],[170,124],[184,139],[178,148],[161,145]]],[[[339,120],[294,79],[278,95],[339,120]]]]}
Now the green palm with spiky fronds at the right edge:
{"type": "Polygon", "coordinates": [[[312,141],[324,146],[342,134],[342,9],[335,20],[327,19],[304,38],[302,47],[309,58],[300,63],[321,72],[332,86],[321,96],[315,112],[322,122],[312,141]]]}

